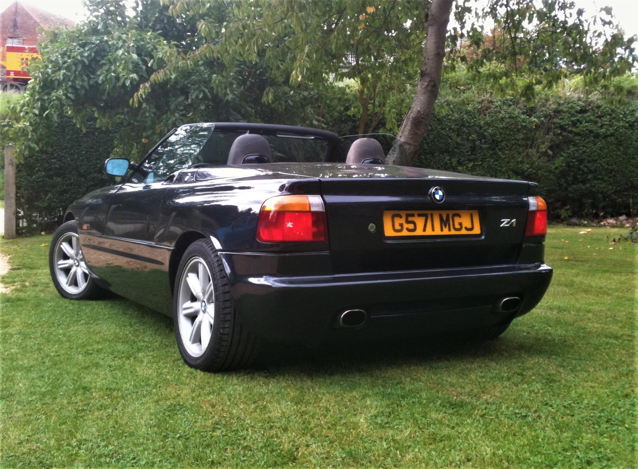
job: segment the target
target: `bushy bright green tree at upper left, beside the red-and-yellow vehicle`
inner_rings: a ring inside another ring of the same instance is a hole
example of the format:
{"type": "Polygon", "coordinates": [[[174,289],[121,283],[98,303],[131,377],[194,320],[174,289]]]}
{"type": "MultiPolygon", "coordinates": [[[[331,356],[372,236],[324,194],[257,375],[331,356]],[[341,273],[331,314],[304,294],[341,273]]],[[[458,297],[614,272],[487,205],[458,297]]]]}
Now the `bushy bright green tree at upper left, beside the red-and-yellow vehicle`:
{"type": "Polygon", "coordinates": [[[93,0],[87,7],[87,21],[68,30],[54,29],[38,45],[41,59],[29,68],[33,80],[18,102],[20,119],[5,122],[5,133],[18,144],[18,156],[38,151],[64,115],[82,128],[95,119],[100,127],[118,129],[116,140],[124,156],[142,153],[154,135],[179,122],[179,103],[167,100],[179,94],[172,82],[156,87],[145,107],[130,106],[140,84],[161,66],[158,51],[170,44],[157,32],[139,27],[138,17],[126,15],[119,1],[93,0]]]}

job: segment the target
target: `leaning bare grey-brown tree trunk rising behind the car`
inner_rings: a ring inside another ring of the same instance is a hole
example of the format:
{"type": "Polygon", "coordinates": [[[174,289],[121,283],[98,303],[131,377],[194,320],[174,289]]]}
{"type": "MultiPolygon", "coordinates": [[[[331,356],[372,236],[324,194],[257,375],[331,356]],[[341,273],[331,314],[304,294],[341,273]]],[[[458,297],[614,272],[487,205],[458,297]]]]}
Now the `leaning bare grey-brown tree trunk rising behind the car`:
{"type": "Polygon", "coordinates": [[[412,106],[397,135],[403,144],[403,151],[394,148],[390,151],[387,162],[391,165],[410,166],[426,134],[441,84],[447,24],[452,12],[452,3],[453,0],[432,0],[427,12],[426,45],[419,82],[412,106]]]}

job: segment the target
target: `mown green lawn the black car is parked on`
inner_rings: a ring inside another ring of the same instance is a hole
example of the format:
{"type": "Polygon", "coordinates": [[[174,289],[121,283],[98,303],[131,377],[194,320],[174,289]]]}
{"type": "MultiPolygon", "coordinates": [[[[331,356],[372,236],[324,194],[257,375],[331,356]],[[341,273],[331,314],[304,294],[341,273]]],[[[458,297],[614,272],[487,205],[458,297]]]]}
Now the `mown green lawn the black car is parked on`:
{"type": "Polygon", "coordinates": [[[0,466],[635,467],[638,248],[580,230],[551,228],[549,292],[497,341],[273,348],[220,375],[165,316],[63,300],[50,237],[2,241],[0,466]]]}

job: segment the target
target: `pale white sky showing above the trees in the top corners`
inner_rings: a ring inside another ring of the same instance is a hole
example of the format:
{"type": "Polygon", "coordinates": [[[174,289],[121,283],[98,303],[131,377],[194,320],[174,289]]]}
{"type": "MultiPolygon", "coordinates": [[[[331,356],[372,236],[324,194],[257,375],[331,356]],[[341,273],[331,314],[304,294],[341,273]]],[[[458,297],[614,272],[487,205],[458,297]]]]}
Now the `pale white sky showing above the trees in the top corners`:
{"type": "MultiPolygon", "coordinates": [[[[56,13],[75,22],[84,19],[86,10],[82,0],[20,0],[42,10],[56,13]]],[[[320,1],[320,0],[318,0],[320,1]]],[[[479,0],[483,3],[485,0],[479,0]]],[[[587,16],[591,16],[602,6],[611,6],[616,20],[625,30],[627,36],[638,34],[638,0],[574,0],[576,8],[584,8],[587,16]]],[[[10,0],[0,0],[0,4],[8,5],[10,0]]],[[[1,7],[0,7],[1,8],[1,7]]]]}

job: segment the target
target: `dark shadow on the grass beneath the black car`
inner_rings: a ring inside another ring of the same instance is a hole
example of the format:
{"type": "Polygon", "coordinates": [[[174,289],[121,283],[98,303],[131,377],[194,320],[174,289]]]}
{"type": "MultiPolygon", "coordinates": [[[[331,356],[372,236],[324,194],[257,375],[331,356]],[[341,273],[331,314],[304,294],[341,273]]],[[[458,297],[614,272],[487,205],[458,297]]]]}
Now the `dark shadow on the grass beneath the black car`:
{"type": "MultiPolygon", "coordinates": [[[[153,324],[162,335],[174,335],[172,318],[117,295],[107,301],[136,322],[153,324]]],[[[262,346],[253,366],[237,373],[330,376],[444,362],[480,361],[516,365],[533,357],[564,353],[568,346],[565,341],[545,332],[523,330],[515,321],[503,336],[493,341],[461,340],[449,334],[412,337],[393,334],[383,339],[330,339],[312,348],[269,343],[262,346]]],[[[172,353],[179,353],[177,345],[172,353]]]]}

